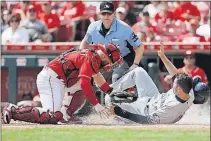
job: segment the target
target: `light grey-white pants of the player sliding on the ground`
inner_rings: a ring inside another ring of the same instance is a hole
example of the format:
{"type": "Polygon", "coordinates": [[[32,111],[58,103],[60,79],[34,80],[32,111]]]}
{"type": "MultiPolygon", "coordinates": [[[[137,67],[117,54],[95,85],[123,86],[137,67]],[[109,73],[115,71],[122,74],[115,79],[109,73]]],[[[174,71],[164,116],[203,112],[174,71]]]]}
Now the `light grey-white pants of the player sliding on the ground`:
{"type": "Polygon", "coordinates": [[[123,91],[136,85],[138,99],[133,103],[117,104],[130,113],[146,115],[146,105],[149,99],[159,94],[159,91],[148,73],[141,67],[135,68],[113,83],[111,87],[116,91],[123,91]]]}

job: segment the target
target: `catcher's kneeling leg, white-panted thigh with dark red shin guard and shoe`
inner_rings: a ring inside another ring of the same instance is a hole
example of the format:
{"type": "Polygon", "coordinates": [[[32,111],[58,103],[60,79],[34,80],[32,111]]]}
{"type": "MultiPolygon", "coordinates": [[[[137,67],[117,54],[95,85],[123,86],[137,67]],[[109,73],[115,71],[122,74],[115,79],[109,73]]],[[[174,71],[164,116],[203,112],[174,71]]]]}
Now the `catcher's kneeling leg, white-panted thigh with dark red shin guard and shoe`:
{"type": "Polygon", "coordinates": [[[46,67],[37,76],[37,88],[43,108],[31,106],[17,108],[13,104],[8,104],[3,114],[11,115],[9,117],[14,120],[41,124],[56,124],[63,120],[64,116],[60,108],[64,95],[64,84],[56,76],[54,71],[46,67]]]}

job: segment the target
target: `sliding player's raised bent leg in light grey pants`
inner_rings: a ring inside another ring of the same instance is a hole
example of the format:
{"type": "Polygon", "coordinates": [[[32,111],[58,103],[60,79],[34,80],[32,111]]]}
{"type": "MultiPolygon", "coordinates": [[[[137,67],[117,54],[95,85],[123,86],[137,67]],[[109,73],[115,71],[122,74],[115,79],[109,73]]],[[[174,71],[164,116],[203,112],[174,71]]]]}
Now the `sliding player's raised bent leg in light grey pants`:
{"type": "Polygon", "coordinates": [[[138,67],[125,74],[118,81],[113,83],[111,87],[117,91],[123,91],[135,85],[137,87],[139,97],[153,97],[154,95],[159,94],[155,83],[152,81],[147,72],[141,67],[138,67]]]}

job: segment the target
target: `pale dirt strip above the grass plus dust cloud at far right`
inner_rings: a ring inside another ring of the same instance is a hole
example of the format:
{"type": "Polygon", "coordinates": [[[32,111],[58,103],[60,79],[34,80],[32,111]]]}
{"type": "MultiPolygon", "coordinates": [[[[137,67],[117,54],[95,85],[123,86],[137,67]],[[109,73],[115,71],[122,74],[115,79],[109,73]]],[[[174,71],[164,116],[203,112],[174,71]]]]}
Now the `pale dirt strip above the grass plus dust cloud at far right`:
{"type": "Polygon", "coordinates": [[[134,122],[122,122],[109,119],[101,119],[98,115],[83,117],[83,124],[66,124],[66,125],[40,125],[20,121],[12,121],[10,124],[2,125],[2,129],[29,129],[29,128],[130,128],[143,130],[185,130],[185,131],[210,131],[210,104],[192,105],[184,117],[176,124],[171,125],[140,125],[134,122]]]}

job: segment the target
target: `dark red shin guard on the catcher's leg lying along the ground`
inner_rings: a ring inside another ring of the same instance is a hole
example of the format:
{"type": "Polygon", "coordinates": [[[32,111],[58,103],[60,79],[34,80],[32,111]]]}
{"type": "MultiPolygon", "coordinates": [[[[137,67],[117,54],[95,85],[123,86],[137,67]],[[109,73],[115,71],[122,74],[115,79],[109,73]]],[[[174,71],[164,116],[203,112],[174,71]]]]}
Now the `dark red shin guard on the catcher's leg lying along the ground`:
{"type": "Polygon", "coordinates": [[[11,112],[14,120],[31,123],[57,124],[63,118],[60,111],[51,113],[49,110],[32,106],[13,108],[11,112]]]}

